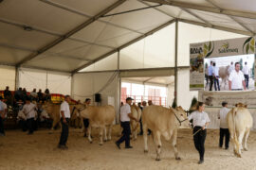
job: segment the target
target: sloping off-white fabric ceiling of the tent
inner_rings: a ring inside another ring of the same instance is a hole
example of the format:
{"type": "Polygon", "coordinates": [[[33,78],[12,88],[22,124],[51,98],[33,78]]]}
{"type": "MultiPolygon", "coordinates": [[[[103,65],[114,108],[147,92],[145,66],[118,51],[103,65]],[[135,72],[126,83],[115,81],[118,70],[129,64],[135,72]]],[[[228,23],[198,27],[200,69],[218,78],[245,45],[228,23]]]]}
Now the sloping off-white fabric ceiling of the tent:
{"type": "Polygon", "coordinates": [[[255,7],[253,0],[4,0],[0,3],[0,64],[25,60],[21,66],[77,71],[174,19],[255,35],[255,7]],[[158,3],[165,5],[101,17],[158,3]],[[64,36],[86,22],[82,29],[64,36]],[[63,40],[42,50],[57,39],[63,40]]]}

